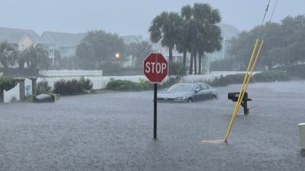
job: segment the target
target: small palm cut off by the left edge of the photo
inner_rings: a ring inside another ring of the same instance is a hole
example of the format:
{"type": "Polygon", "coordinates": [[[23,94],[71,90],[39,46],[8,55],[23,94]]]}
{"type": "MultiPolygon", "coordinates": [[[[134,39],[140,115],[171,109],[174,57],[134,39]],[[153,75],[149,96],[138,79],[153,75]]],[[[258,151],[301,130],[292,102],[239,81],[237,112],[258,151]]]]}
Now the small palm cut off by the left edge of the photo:
{"type": "Polygon", "coordinates": [[[17,60],[17,52],[8,42],[0,42],[0,62],[4,68],[8,68],[8,64],[15,64],[17,60]]]}

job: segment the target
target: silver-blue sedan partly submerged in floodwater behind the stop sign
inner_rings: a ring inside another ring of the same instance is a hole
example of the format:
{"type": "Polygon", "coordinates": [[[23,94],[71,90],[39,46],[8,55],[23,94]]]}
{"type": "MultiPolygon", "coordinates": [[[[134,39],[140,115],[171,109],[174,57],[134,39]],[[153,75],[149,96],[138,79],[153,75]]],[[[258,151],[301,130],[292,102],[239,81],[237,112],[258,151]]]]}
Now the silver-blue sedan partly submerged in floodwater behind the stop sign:
{"type": "Polygon", "coordinates": [[[157,94],[158,102],[195,102],[207,99],[217,99],[218,91],[208,84],[179,83],[157,94]]]}

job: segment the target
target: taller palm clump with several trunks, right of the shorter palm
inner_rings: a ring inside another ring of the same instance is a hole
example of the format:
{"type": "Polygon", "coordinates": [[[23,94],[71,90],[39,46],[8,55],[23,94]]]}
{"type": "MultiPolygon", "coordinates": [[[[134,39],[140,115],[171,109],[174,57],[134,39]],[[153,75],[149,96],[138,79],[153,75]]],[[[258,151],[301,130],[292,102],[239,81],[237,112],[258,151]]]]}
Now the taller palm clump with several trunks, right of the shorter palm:
{"type": "MultiPolygon", "coordinates": [[[[212,8],[208,3],[194,3],[193,8],[186,11],[185,16],[191,20],[189,22],[190,33],[193,36],[191,38],[191,56],[193,56],[194,71],[197,74],[197,54],[198,73],[200,73],[204,53],[213,53],[221,48],[223,38],[219,26],[216,25],[221,21],[221,17],[219,10],[212,8]]],[[[190,67],[190,73],[192,73],[192,67],[190,67]]]]}

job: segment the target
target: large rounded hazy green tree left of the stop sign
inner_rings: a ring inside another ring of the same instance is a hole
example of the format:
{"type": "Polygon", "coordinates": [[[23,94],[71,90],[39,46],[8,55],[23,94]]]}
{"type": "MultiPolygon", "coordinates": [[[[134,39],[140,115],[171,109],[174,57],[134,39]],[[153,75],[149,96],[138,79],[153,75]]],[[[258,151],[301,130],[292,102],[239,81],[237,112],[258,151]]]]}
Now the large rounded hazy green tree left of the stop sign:
{"type": "Polygon", "coordinates": [[[103,30],[89,31],[76,48],[76,56],[82,69],[97,69],[101,62],[123,62],[124,54],[123,39],[103,30]],[[117,59],[114,57],[116,53],[119,53],[117,59]]]}

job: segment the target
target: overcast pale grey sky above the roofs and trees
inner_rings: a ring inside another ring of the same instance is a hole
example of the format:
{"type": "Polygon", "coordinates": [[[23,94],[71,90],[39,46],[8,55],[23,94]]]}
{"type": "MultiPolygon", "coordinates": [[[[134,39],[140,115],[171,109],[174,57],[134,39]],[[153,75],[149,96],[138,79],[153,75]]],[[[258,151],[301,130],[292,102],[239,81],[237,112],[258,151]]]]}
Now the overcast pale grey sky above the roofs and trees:
{"type": "MultiPolygon", "coordinates": [[[[259,25],[268,0],[0,0],[0,27],[68,33],[103,29],[119,35],[148,37],[152,19],[163,11],[179,12],[195,2],[218,8],[223,23],[239,30],[259,25]]],[[[276,0],[271,0],[273,4],[276,0]]],[[[271,13],[270,9],[270,13],[271,13]]],[[[279,0],[273,21],[305,13],[305,0],[279,0]]]]}

